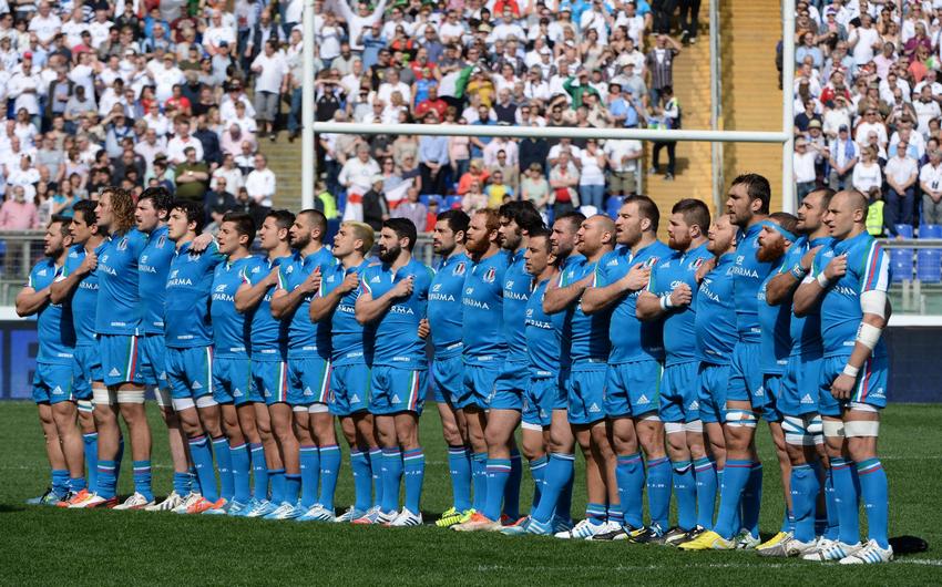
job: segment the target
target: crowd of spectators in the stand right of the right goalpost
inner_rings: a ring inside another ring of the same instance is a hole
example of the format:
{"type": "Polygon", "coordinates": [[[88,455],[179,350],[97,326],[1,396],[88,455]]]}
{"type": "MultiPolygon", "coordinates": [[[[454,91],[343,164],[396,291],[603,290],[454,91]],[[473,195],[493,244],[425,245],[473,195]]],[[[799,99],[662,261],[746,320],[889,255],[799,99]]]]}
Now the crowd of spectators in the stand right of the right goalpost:
{"type": "MultiPolygon", "coordinates": [[[[872,234],[942,224],[942,6],[800,0],[795,179],[869,195],[872,234]]],[[[909,230],[904,230],[909,233],[909,230]]]]}

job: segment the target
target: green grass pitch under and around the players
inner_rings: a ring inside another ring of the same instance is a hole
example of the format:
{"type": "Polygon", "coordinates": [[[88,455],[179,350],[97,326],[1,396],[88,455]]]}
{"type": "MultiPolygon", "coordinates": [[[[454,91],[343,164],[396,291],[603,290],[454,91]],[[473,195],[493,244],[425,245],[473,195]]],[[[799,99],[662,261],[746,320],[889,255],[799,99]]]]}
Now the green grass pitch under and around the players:
{"type": "MultiPolygon", "coordinates": [[[[433,404],[421,439],[427,470],[423,511],[431,522],[451,502],[446,450],[433,404]]],[[[165,494],[172,470],[156,408],[154,488],[165,494]]],[[[389,529],[144,512],[62,511],[23,505],[49,480],[35,408],[0,403],[0,585],[940,585],[942,464],[940,405],[891,405],[881,426],[890,480],[891,535],[929,542],[928,553],[883,566],[821,566],[764,559],[755,553],[682,553],[626,543],[458,534],[434,526],[389,529]]],[[[768,433],[762,534],[778,529],[782,497],[768,433]]],[[[131,490],[130,450],[121,493],[131,490]]],[[[524,466],[524,468],[526,468],[524,466]]],[[[577,465],[577,470],[580,466],[577,465]]],[[[532,484],[524,474],[523,512],[532,484]]],[[[337,503],[352,500],[345,455],[337,503]]],[[[576,478],[573,512],[585,504],[576,478]]]]}

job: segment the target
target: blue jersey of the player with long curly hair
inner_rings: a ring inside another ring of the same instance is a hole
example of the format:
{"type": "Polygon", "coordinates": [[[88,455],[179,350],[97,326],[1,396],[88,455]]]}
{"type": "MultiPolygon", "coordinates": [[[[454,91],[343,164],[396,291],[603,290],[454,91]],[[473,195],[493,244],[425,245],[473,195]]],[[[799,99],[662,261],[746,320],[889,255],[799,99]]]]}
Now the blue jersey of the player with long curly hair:
{"type": "Polygon", "coordinates": [[[140,333],[142,307],[137,264],[146,245],[147,235],[132,228],[109,236],[95,248],[99,257],[95,333],[140,333]]]}

